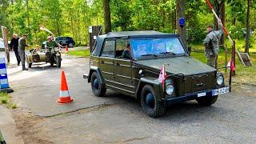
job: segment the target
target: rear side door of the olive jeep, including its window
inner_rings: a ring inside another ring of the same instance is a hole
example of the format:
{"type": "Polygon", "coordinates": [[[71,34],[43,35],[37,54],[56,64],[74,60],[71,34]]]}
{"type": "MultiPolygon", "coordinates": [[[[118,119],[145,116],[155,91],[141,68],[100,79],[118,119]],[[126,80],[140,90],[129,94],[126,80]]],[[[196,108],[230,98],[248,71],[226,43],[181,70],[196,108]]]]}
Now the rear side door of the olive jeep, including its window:
{"type": "Polygon", "coordinates": [[[99,58],[99,68],[106,82],[106,86],[114,85],[114,54],[115,40],[106,39],[99,58]]]}

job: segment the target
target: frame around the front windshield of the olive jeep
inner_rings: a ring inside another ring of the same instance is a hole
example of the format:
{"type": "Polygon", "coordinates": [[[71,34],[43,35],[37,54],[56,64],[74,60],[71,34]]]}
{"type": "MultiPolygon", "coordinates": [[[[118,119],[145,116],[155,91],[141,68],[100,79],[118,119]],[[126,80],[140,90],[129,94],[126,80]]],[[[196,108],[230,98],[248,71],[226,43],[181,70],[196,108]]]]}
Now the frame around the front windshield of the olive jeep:
{"type": "Polygon", "coordinates": [[[186,46],[185,46],[184,42],[182,41],[182,39],[179,38],[179,37],[130,38],[130,43],[131,43],[131,40],[132,40],[132,39],[140,39],[140,40],[145,39],[145,40],[148,40],[148,39],[168,39],[168,38],[177,38],[177,39],[179,40],[179,42],[181,43],[181,46],[182,46],[182,48],[183,48],[183,50],[184,50],[184,53],[183,53],[183,54],[172,54],[172,53],[170,53],[170,54],[157,54],[157,56],[156,56],[156,54],[152,54],[152,55],[146,55],[146,56],[143,56],[143,57],[135,58],[135,56],[134,56],[134,48],[133,48],[132,44],[130,44],[130,46],[131,46],[131,51],[132,51],[132,55],[133,55],[134,60],[156,59],[156,58],[174,58],[174,57],[182,57],[182,56],[187,56],[187,55],[188,55],[188,51],[187,51],[187,49],[186,49],[186,46]]]}

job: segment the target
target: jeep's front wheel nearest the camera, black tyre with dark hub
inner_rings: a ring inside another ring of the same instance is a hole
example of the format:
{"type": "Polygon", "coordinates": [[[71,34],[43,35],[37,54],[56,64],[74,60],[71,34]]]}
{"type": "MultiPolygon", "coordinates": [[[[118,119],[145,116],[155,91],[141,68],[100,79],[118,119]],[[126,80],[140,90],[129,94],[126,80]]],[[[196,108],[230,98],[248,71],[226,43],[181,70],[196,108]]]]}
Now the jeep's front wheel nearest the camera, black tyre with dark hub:
{"type": "Polygon", "coordinates": [[[159,101],[152,86],[146,85],[142,89],[141,103],[144,112],[151,118],[162,116],[166,112],[166,105],[159,101]]]}

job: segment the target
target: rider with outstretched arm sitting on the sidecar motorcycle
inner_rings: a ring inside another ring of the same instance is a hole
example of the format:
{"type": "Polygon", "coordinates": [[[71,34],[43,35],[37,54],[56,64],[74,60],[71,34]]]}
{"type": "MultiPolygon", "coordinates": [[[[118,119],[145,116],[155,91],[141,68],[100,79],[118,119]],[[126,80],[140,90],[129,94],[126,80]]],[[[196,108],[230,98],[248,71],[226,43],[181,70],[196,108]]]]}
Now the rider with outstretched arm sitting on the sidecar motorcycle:
{"type": "Polygon", "coordinates": [[[47,42],[46,42],[46,46],[45,48],[48,49],[49,51],[46,52],[46,58],[47,58],[47,61],[50,62],[50,59],[52,58],[52,54],[51,54],[51,50],[54,49],[54,47],[59,47],[61,48],[62,45],[60,45],[58,42],[54,41],[54,39],[49,36],[47,38],[47,42]]]}

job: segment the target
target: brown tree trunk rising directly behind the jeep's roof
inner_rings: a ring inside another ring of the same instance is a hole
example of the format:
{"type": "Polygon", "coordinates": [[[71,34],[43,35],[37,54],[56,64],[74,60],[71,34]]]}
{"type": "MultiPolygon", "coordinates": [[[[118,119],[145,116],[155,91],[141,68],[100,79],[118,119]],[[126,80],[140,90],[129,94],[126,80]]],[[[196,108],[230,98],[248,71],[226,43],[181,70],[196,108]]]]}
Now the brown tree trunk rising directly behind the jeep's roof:
{"type": "Polygon", "coordinates": [[[110,0],[103,0],[105,33],[111,31],[110,0]]]}

